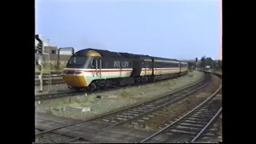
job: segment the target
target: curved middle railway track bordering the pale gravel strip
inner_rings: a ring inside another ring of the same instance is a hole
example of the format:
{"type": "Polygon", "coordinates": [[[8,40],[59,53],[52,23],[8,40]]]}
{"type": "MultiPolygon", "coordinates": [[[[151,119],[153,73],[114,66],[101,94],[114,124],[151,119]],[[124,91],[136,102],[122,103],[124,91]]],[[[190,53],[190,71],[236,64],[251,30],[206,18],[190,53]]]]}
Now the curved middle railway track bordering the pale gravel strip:
{"type": "MultiPolygon", "coordinates": [[[[123,123],[130,122],[135,118],[144,117],[145,115],[146,117],[152,117],[152,115],[156,116],[157,114],[154,114],[155,110],[158,110],[163,106],[170,105],[171,103],[178,102],[179,100],[182,100],[182,98],[186,98],[188,95],[194,94],[198,90],[202,90],[202,88],[204,88],[210,82],[210,80],[211,80],[210,74],[206,74],[205,78],[202,81],[192,86],[187,86],[182,90],[177,90],[171,94],[164,95],[160,98],[154,98],[147,102],[141,102],[135,106],[122,108],[121,110],[116,110],[114,112],[110,112],[109,114],[102,114],[98,117],[83,120],[81,122],[74,122],[67,125],[58,126],[49,130],[44,130],[38,134],[35,134],[35,136],[37,137],[41,134],[46,134],[54,130],[59,130],[59,129],[70,127],[70,126],[71,127],[79,126],[79,125],[82,125],[83,122],[94,122],[98,124],[103,123],[104,124],[103,127],[97,130],[90,131],[90,134],[93,134],[93,133],[97,133],[99,131],[105,130],[107,128],[110,128],[112,126],[118,126],[123,123]]],[[[81,137],[78,136],[77,138],[74,138],[74,140],[83,139],[83,138],[84,137],[81,135],[81,137]]]]}

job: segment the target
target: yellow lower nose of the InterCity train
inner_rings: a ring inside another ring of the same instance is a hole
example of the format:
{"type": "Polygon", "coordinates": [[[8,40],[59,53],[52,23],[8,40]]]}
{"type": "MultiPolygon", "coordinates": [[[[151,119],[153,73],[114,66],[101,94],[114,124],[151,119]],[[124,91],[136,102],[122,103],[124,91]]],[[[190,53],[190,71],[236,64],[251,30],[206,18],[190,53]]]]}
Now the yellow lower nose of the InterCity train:
{"type": "Polygon", "coordinates": [[[66,82],[69,86],[75,87],[86,87],[86,77],[84,76],[83,72],[81,71],[69,71],[64,70],[62,72],[63,81],[66,82]]]}

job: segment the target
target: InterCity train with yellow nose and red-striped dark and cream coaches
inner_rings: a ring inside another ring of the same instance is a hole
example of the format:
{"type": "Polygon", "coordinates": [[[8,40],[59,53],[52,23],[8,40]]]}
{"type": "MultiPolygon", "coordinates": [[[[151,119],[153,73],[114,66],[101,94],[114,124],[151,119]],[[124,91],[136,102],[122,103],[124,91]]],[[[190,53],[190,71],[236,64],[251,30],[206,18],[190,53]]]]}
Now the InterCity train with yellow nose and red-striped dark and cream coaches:
{"type": "Polygon", "coordinates": [[[175,78],[187,71],[187,62],[175,59],[85,49],[70,57],[62,78],[74,90],[97,90],[100,87],[175,78]]]}

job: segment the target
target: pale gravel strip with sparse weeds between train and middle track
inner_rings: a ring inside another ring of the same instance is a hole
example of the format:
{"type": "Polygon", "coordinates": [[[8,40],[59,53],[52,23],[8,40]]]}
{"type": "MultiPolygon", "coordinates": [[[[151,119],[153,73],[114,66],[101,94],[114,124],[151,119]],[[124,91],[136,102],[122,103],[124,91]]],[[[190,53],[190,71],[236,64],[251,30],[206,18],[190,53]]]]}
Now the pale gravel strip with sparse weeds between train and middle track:
{"type": "Polygon", "coordinates": [[[58,98],[35,102],[35,111],[54,114],[64,118],[83,119],[110,112],[122,106],[134,105],[137,102],[168,94],[184,86],[198,82],[202,72],[190,72],[181,78],[166,80],[144,86],[136,86],[121,90],[110,90],[101,94],[90,94],[72,98],[58,98]],[[40,104],[39,104],[40,103],[40,104]],[[84,108],[84,111],[82,111],[84,108]]]}

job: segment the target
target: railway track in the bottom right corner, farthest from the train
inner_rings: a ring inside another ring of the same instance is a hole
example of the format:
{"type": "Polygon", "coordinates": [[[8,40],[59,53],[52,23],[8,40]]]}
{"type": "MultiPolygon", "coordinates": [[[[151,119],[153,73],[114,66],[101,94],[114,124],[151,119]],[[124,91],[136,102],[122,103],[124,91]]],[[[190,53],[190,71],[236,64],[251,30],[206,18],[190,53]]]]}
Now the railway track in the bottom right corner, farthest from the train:
{"type": "Polygon", "coordinates": [[[150,143],[150,139],[156,138],[160,134],[168,135],[164,142],[200,141],[212,122],[218,119],[219,114],[222,113],[222,102],[215,98],[221,90],[222,87],[193,110],[162,128],[162,130],[158,130],[158,132],[143,139],[140,143],[150,143]]]}

